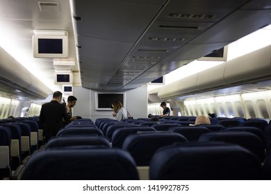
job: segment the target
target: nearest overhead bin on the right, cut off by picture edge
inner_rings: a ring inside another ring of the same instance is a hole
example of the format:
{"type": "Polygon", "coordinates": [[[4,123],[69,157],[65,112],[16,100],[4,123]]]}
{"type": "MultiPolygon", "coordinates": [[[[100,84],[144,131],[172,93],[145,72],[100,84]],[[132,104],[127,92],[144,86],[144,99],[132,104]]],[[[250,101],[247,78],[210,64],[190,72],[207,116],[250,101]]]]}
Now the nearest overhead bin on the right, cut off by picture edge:
{"type": "Polygon", "coordinates": [[[271,46],[266,46],[227,62],[224,79],[230,85],[270,80],[271,76],[271,46]]]}

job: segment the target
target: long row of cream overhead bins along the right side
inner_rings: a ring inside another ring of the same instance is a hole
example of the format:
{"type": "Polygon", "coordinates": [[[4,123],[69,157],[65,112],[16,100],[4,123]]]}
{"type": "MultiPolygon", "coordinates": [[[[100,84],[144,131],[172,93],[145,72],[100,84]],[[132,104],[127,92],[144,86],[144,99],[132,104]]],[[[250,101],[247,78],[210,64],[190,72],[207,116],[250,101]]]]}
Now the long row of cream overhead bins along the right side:
{"type": "Polygon", "coordinates": [[[165,85],[158,90],[162,100],[199,94],[271,79],[271,45],[223,64],[165,85]],[[174,88],[172,88],[174,87],[174,88]]]}

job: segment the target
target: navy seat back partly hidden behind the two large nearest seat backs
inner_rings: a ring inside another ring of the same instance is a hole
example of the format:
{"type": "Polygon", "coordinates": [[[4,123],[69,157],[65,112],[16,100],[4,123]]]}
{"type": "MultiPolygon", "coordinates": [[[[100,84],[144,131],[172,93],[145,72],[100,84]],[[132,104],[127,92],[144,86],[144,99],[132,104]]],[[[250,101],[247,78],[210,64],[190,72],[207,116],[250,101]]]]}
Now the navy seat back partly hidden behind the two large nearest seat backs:
{"type": "Polygon", "coordinates": [[[188,142],[188,140],[177,133],[151,132],[131,134],[124,140],[122,149],[130,152],[137,166],[149,166],[149,161],[158,148],[177,142],[188,142]]]}

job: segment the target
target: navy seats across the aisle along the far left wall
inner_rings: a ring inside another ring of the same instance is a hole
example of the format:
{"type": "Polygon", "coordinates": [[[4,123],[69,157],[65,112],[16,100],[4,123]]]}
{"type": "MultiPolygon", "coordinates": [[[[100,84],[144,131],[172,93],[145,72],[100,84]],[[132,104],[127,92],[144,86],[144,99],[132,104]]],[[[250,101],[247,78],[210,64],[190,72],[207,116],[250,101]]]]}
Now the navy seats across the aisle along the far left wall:
{"type": "Polygon", "coordinates": [[[1,120],[0,178],[11,178],[24,158],[38,150],[38,121],[1,120]]]}

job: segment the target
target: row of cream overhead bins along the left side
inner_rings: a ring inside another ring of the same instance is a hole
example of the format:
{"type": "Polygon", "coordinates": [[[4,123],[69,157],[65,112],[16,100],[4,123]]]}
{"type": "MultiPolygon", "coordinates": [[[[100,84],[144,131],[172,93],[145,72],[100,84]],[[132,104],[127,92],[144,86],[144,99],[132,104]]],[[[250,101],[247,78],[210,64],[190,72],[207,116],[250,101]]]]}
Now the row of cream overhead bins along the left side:
{"type": "Polygon", "coordinates": [[[1,47],[0,85],[1,93],[19,96],[19,100],[44,99],[52,93],[51,89],[1,47]]]}

